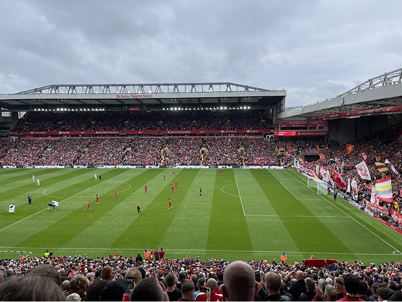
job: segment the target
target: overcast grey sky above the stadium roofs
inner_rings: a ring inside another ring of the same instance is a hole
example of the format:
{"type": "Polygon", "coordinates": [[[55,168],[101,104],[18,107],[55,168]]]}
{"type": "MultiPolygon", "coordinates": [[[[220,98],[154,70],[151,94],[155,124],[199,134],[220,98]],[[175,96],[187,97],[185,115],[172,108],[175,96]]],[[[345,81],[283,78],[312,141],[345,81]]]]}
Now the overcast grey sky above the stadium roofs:
{"type": "Polygon", "coordinates": [[[400,12],[373,0],[3,0],[0,93],[229,81],[307,105],[402,67],[400,12]]]}

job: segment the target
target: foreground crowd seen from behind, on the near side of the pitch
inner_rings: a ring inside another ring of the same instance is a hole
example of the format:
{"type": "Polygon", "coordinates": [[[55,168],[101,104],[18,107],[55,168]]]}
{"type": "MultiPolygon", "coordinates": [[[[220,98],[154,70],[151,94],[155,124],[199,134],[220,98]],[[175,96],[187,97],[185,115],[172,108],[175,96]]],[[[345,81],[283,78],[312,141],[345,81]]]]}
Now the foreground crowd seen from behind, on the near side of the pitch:
{"type": "Polygon", "coordinates": [[[0,260],[0,300],[397,301],[402,263],[321,267],[199,257],[143,260],[113,255],[0,260]],[[132,281],[131,281],[132,280],[132,281]],[[133,289],[130,289],[130,284],[133,289]]]}

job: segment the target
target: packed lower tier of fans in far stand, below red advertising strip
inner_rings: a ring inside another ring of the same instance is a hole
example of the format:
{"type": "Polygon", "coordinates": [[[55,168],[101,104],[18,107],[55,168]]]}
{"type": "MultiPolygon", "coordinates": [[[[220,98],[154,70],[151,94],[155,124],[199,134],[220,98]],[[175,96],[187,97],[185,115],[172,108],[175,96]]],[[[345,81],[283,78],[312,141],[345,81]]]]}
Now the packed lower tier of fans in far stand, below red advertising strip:
{"type": "Polygon", "coordinates": [[[91,137],[0,141],[3,165],[286,165],[307,143],[262,137],[91,137]]]}

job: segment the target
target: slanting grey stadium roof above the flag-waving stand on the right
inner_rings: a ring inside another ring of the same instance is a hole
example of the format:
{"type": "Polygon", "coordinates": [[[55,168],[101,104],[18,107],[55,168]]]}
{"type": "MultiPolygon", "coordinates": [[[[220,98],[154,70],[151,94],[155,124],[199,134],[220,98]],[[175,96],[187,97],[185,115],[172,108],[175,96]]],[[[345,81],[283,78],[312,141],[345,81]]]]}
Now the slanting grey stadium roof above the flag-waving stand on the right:
{"type": "Polygon", "coordinates": [[[402,68],[399,68],[368,79],[337,97],[306,106],[286,108],[284,112],[278,114],[278,118],[311,118],[401,104],[402,68]]]}

